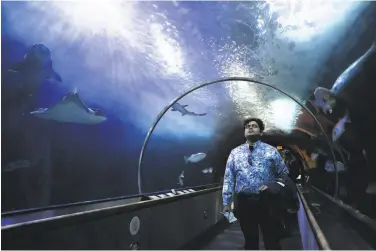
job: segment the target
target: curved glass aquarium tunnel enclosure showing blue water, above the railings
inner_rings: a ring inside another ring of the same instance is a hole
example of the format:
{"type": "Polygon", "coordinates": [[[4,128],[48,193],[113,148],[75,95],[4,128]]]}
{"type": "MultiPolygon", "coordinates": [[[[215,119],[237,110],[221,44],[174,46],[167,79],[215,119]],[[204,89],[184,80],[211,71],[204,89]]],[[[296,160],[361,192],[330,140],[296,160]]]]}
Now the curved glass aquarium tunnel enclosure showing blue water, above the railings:
{"type": "MultiPolygon", "coordinates": [[[[2,211],[137,194],[137,161],[153,119],[188,88],[218,77],[277,86],[332,135],[339,118],[312,105],[313,90],[331,88],[370,47],[376,7],[299,4],[2,3],[2,211]],[[65,96],[71,106],[40,115],[38,108],[65,96]]],[[[372,108],[374,91],[369,95],[372,108]]],[[[307,182],[334,194],[328,145],[312,118],[283,95],[233,83],[179,103],[188,114],[168,111],[145,152],[145,192],[220,182],[229,151],[244,141],[241,119],[255,116],[267,124],[267,142],[295,155],[307,182]],[[202,161],[185,163],[199,152],[206,153],[202,161]]],[[[352,107],[355,127],[334,144],[345,167],[338,196],[375,218],[375,116],[364,110],[352,107]]]]}

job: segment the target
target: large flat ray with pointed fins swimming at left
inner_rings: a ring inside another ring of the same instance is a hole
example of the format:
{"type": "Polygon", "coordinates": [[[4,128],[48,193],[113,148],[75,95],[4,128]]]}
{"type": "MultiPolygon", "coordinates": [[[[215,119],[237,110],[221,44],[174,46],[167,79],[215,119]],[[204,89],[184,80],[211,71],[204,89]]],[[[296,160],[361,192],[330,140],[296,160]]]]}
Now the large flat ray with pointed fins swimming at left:
{"type": "Polygon", "coordinates": [[[77,90],[69,93],[51,107],[40,108],[30,114],[40,119],[84,125],[99,124],[107,120],[102,111],[88,108],[81,101],[77,90]]]}

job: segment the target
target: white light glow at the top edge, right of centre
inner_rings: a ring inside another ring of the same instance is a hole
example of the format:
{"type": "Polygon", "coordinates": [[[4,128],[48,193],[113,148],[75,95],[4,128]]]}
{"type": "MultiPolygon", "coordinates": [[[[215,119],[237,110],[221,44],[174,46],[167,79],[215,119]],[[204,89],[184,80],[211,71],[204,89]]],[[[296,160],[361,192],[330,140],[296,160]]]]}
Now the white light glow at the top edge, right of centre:
{"type": "Polygon", "coordinates": [[[341,20],[353,7],[353,1],[267,0],[271,14],[279,15],[283,36],[295,41],[307,41],[341,20]]]}

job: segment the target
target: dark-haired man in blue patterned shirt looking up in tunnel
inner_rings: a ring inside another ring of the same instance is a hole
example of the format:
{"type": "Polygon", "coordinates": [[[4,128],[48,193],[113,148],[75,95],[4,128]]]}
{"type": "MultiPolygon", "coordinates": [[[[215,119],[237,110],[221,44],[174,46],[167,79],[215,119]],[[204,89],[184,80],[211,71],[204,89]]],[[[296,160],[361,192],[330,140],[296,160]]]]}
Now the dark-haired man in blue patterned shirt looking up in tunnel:
{"type": "Polygon", "coordinates": [[[288,169],[278,150],[260,141],[264,129],[260,119],[244,121],[247,142],[231,151],[224,175],[223,211],[231,211],[234,199],[234,215],[239,220],[246,250],[259,249],[259,225],[265,248],[281,249],[279,221],[271,216],[272,203],[265,198],[269,198],[276,183],[284,185],[288,169]]]}

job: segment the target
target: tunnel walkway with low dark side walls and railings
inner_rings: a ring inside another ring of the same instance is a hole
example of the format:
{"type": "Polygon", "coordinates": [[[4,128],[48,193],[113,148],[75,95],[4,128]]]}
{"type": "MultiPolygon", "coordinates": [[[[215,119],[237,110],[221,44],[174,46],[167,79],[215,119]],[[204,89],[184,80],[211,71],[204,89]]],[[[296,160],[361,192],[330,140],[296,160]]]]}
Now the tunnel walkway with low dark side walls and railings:
{"type": "MultiPolygon", "coordinates": [[[[239,223],[228,224],[220,212],[222,186],[190,190],[3,213],[2,249],[242,250],[239,223]]],[[[313,187],[298,192],[283,250],[374,250],[372,221],[313,187]]],[[[259,243],[265,249],[261,233],[259,243]]]]}

